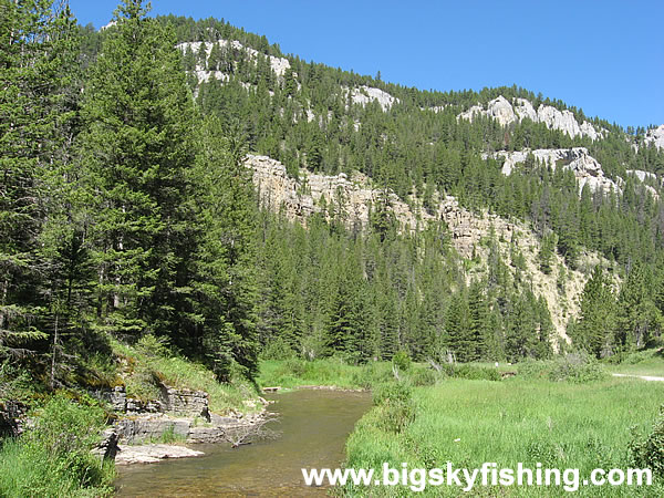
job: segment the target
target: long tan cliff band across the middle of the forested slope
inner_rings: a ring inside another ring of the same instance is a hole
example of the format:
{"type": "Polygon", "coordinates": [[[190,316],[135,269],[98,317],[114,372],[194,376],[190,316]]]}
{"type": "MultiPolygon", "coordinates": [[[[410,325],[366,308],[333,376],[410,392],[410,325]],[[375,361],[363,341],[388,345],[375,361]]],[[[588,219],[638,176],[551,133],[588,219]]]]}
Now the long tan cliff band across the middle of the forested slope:
{"type": "MultiPolygon", "coordinates": [[[[295,180],[287,175],[280,162],[270,157],[249,155],[246,164],[253,172],[253,184],[262,207],[282,212],[288,219],[303,225],[314,214],[329,217],[329,207],[334,205],[335,212],[340,214],[347,228],[365,230],[370,226],[372,206],[384,196],[382,190],[372,186],[370,178],[360,174],[349,178],[343,173],[325,176],[301,170],[300,179],[295,180]]],[[[494,231],[504,260],[509,261],[510,251],[513,250],[510,243],[513,241],[515,248],[526,260],[533,292],[547,300],[558,336],[568,340],[567,321],[578,313],[577,298],[583,290],[585,277],[566,268],[558,255],[554,256],[553,271],[550,274],[542,273],[538,263],[539,238],[526,225],[488,212],[470,212],[450,196],[436,195],[435,208],[430,211],[423,208],[417,196],[412,196],[406,203],[394,193],[387,193],[387,200],[402,232],[422,230],[429,222],[444,221],[449,229],[453,247],[464,258],[475,256],[486,264],[488,249],[484,241],[494,231]],[[560,290],[557,283],[561,269],[567,273],[564,290],[560,290]]],[[[483,274],[485,264],[473,270],[468,279],[483,274]]],[[[513,268],[511,270],[516,271],[513,268]]]]}

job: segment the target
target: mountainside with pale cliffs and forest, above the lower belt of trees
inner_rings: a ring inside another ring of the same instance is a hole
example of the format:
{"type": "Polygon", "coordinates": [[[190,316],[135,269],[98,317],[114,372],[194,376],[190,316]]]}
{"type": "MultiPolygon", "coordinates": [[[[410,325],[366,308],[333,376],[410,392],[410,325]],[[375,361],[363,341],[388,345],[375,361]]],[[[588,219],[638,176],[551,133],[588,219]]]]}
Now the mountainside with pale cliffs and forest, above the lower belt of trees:
{"type": "MultiPolygon", "coordinates": [[[[466,260],[466,284],[494,279],[495,267],[507,262],[513,281],[499,287],[516,294],[530,288],[544,298],[558,335],[567,338],[569,329],[595,354],[620,347],[616,336],[629,333],[615,331],[615,317],[591,333],[578,315],[590,299],[582,290],[592,268],[605,269],[613,299],[633,266],[647,268],[647,286],[661,286],[664,156],[657,128],[625,131],[517,87],[406,89],[286,56],[224,22],[163,21],[176,25],[201,108],[229,127],[242,116],[250,147],[283,164],[249,159],[272,211],[302,222],[323,214],[369,237],[381,222],[406,238],[443,227],[459,261],[466,260]],[[488,250],[491,240],[500,249],[488,250]],[[582,332],[573,331],[577,324],[582,332]]],[[[501,319],[513,315],[499,303],[515,295],[484,299],[501,319]]],[[[450,304],[442,308],[450,311],[450,304]]],[[[634,334],[658,335],[658,305],[646,308],[652,312],[632,323],[643,332],[634,334]]],[[[625,313],[620,305],[612,312],[625,313]]],[[[437,326],[445,336],[453,325],[442,318],[437,326]]],[[[479,335],[496,330],[479,328],[479,335]]],[[[498,329],[505,339],[509,328],[498,329]]]]}

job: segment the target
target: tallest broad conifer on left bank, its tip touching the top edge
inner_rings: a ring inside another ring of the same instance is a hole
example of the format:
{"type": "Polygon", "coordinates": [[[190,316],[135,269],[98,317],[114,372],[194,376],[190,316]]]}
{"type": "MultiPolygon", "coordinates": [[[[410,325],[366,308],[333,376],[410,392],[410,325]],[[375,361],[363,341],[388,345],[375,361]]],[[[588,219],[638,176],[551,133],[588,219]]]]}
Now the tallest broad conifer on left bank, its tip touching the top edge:
{"type": "Polygon", "coordinates": [[[173,32],[138,0],[115,11],[85,89],[82,162],[97,199],[97,313],[105,330],[186,341],[194,105],[173,32]]]}

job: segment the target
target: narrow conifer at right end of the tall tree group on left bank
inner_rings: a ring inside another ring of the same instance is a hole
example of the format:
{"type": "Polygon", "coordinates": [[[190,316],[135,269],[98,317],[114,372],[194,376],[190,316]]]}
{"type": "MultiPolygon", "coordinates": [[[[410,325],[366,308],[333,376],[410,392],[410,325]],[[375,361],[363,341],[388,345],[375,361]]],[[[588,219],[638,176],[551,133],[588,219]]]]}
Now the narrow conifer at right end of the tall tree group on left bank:
{"type": "MultiPolygon", "coordinates": [[[[234,367],[258,373],[256,288],[256,211],[250,172],[242,145],[227,137],[220,121],[200,126],[195,201],[198,205],[194,312],[204,354],[217,376],[230,378],[234,367]]],[[[281,282],[283,283],[283,282],[281,282]]]]}

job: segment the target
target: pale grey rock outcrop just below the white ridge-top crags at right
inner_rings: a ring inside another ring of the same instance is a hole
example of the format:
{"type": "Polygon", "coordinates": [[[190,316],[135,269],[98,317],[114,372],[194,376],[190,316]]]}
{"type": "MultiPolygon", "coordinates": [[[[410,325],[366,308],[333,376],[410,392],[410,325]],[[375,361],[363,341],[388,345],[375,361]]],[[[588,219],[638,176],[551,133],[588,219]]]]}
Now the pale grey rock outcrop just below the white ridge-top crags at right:
{"type": "MultiPolygon", "coordinates": [[[[536,151],[525,149],[516,152],[500,151],[491,156],[495,158],[502,157],[502,174],[511,175],[518,164],[526,163],[528,156],[532,155],[535,160],[541,165],[550,166],[556,170],[558,166],[563,169],[569,169],[574,174],[579,184],[579,191],[588,185],[592,191],[598,189],[604,193],[611,190],[622,193],[622,189],[611,178],[604,176],[602,165],[592,157],[585,147],[573,148],[538,148],[536,151]]],[[[487,154],[484,155],[488,157],[487,154]]]]}

